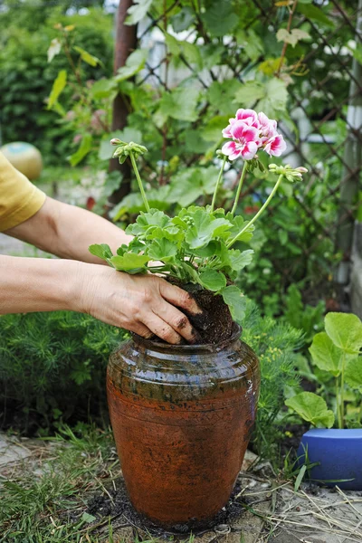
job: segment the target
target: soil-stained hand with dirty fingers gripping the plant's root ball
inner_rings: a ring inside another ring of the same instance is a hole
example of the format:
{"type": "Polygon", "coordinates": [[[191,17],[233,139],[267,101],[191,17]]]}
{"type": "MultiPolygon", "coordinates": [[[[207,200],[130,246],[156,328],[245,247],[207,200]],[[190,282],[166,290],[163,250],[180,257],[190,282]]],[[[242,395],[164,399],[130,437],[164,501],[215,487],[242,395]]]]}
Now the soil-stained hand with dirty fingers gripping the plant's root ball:
{"type": "Polygon", "coordinates": [[[175,307],[201,313],[186,291],[155,275],[129,275],[97,264],[80,264],[79,274],[78,310],[143,338],[156,334],[173,344],[182,338],[197,342],[197,332],[175,307]]]}

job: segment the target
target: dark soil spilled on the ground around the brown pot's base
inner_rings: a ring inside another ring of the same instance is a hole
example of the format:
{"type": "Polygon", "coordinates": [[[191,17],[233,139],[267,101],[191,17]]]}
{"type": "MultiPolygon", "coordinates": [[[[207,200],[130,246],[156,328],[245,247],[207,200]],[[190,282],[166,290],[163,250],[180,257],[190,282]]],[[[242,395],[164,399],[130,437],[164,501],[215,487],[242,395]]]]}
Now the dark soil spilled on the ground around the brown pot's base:
{"type": "MultiPolygon", "coordinates": [[[[104,517],[110,517],[111,519],[117,517],[118,521],[120,519],[124,521],[124,524],[129,524],[129,526],[133,526],[136,529],[148,531],[156,538],[166,538],[170,534],[187,534],[191,531],[194,534],[199,533],[200,531],[204,532],[205,530],[213,529],[214,526],[227,524],[231,520],[240,517],[244,510],[243,504],[236,500],[236,496],[241,491],[240,485],[236,484],[230,500],[213,519],[202,523],[195,519],[190,519],[189,522],[175,525],[172,529],[162,529],[150,522],[144,516],[139,515],[134,509],[129,501],[123,479],[119,479],[116,486],[116,491],[110,490],[109,494],[102,493],[93,496],[88,502],[86,512],[96,517],[97,522],[104,517]]],[[[245,499],[243,499],[243,501],[245,501],[245,499]]]]}

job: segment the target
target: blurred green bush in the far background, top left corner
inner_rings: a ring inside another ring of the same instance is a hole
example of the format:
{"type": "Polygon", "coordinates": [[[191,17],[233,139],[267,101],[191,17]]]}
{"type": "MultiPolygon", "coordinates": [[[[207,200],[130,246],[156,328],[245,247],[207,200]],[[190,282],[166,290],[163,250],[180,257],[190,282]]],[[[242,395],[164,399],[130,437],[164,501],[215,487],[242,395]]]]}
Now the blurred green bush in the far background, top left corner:
{"type": "MultiPolygon", "coordinates": [[[[38,0],[7,1],[0,13],[0,123],[3,143],[28,141],[43,152],[45,162],[57,163],[67,156],[74,137],[72,125],[59,122],[59,114],[47,110],[45,100],[57,74],[69,69],[58,54],[51,63],[46,52],[58,31],[54,24],[75,25],[77,44],[97,54],[103,67],[86,65],[83,83],[111,73],[111,17],[100,10],[89,14],[64,15],[69,2],[40,3],[38,0]],[[41,7],[40,7],[41,5],[41,7]]],[[[96,3],[94,3],[96,4],[96,3]]],[[[74,61],[79,56],[72,52],[74,61]]],[[[71,109],[71,92],[62,92],[64,115],[71,109]]],[[[90,131],[89,119],[88,130],[90,131]]]]}

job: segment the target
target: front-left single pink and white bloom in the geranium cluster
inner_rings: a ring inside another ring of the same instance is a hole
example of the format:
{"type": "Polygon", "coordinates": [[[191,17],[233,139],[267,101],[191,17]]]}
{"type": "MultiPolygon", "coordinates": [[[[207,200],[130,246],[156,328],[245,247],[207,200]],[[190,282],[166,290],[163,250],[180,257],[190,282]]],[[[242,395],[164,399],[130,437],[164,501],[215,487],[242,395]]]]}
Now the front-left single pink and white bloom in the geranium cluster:
{"type": "Polygon", "coordinates": [[[225,143],[222,151],[230,160],[238,157],[251,160],[255,157],[260,144],[258,129],[246,124],[243,120],[235,120],[228,137],[233,138],[233,141],[225,143]]]}

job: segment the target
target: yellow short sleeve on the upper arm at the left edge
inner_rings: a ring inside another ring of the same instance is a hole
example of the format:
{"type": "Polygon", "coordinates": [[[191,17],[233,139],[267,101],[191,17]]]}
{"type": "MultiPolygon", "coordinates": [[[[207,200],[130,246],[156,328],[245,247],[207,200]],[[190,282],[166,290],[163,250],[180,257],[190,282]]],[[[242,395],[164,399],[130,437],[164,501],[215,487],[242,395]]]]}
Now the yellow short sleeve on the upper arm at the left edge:
{"type": "Polygon", "coordinates": [[[0,232],[24,223],[42,207],[46,195],[0,152],[0,232]]]}

